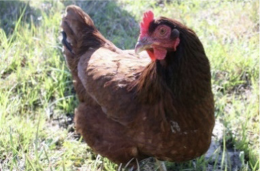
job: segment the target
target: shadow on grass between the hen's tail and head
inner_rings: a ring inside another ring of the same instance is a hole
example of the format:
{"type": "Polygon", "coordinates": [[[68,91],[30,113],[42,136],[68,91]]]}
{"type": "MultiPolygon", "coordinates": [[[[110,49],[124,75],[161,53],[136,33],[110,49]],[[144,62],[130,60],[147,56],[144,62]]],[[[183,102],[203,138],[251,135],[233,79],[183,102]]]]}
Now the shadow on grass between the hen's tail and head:
{"type": "Polygon", "coordinates": [[[93,19],[97,29],[121,49],[133,49],[139,36],[139,23],[116,1],[67,0],[64,5],[80,6],[93,19]]]}

